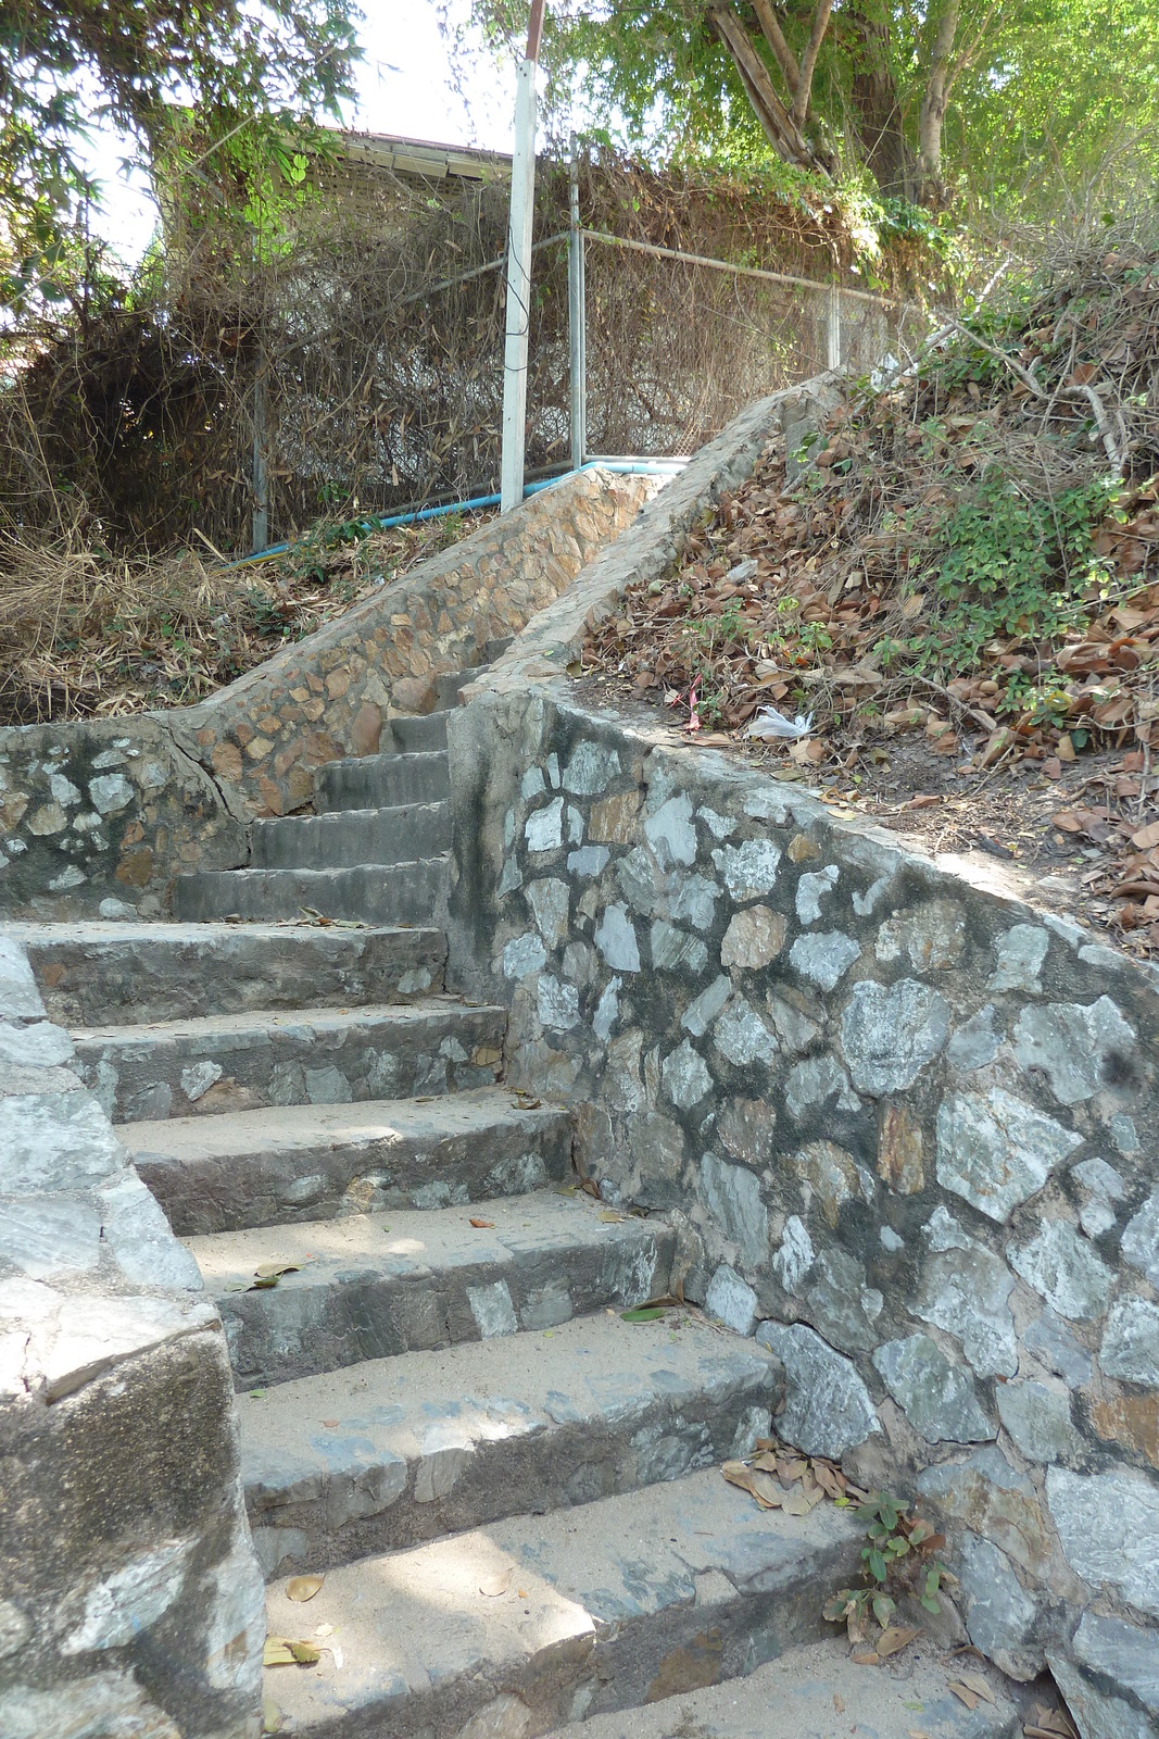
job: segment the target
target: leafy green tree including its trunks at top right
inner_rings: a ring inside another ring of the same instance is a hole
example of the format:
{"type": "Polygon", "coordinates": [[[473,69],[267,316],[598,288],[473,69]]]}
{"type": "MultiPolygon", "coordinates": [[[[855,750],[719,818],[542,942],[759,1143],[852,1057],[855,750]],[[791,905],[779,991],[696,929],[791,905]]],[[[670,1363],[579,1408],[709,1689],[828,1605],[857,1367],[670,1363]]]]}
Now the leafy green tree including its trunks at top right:
{"type": "MultiPolygon", "coordinates": [[[[518,45],[527,0],[473,0],[518,45]]],[[[622,143],[1058,214],[1159,162],[1159,0],[551,0],[563,106],[622,143]]]]}

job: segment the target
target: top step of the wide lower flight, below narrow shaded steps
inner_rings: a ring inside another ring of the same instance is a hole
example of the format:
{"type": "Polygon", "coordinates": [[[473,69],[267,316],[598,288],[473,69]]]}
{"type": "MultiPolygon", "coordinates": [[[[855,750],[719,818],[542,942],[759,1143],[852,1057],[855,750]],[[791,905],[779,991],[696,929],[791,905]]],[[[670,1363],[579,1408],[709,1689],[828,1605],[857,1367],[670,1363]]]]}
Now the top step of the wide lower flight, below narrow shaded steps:
{"type": "Polygon", "coordinates": [[[443,988],[447,937],[318,923],[9,923],[63,1026],[356,1007],[443,988]]]}

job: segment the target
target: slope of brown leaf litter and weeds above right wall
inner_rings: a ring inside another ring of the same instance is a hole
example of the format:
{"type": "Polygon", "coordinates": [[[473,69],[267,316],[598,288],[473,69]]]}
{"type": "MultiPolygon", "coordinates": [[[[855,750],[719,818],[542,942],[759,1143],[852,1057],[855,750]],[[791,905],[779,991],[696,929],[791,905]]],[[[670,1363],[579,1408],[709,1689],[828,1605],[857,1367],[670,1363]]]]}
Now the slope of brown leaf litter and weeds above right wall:
{"type": "Polygon", "coordinates": [[[572,668],[1159,956],[1159,243],[1072,243],[791,457],[572,668]]]}

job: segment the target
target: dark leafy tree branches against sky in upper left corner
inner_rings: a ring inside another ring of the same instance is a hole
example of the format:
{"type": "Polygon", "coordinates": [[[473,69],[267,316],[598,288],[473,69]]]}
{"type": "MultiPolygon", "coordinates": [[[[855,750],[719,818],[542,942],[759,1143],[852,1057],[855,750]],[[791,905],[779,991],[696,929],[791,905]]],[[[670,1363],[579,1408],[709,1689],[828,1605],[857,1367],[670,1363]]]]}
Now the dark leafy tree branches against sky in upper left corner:
{"type": "Polygon", "coordinates": [[[351,0],[0,0],[0,250],[21,263],[9,299],[70,245],[94,191],[78,150],[92,118],[155,160],[191,125],[226,144],[264,118],[335,115],[353,17],[351,0]]]}

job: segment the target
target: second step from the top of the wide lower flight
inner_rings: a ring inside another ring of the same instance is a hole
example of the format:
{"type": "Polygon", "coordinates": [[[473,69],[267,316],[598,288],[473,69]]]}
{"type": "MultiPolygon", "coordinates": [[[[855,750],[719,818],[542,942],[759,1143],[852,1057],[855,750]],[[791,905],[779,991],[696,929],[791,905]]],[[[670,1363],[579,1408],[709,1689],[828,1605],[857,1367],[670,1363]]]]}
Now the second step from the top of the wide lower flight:
{"type": "Polygon", "coordinates": [[[506,1010],[454,998],[311,1014],[76,1028],[76,1068],[118,1123],[490,1087],[506,1010]]]}

